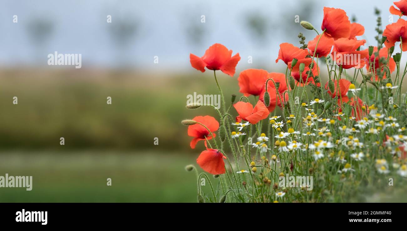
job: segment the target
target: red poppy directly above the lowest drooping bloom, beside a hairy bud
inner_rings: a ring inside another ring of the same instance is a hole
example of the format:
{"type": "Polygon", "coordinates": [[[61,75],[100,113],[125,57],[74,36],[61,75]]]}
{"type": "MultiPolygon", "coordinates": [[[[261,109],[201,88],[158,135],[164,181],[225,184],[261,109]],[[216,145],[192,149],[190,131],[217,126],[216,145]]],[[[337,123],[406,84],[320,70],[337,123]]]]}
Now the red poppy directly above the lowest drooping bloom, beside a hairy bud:
{"type": "MultiPolygon", "coordinates": [[[[205,125],[213,134],[213,137],[216,137],[216,134],[213,132],[218,130],[219,128],[219,122],[211,116],[197,116],[193,120],[202,123],[205,125]]],[[[206,128],[200,124],[194,124],[194,125],[189,125],[188,126],[188,136],[193,136],[195,137],[192,139],[190,143],[191,148],[195,148],[197,145],[198,141],[200,140],[205,140],[206,139],[210,140],[212,139],[212,136],[210,136],[210,132],[206,130],[206,128]]],[[[206,140],[205,140],[206,143],[206,140]]]]}

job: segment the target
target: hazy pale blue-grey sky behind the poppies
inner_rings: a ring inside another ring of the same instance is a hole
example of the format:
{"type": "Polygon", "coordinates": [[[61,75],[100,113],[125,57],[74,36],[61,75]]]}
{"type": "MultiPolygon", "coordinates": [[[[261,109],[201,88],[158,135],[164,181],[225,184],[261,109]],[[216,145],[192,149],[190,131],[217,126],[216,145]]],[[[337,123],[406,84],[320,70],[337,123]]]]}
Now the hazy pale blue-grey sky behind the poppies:
{"type": "Polygon", "coordinates": [[[271,70],[283,66],[275,64],[280,43],[299,46],[299,32],[306,35],[307,42],[316,35],[295,24],[295,15],[320,30],[324,6],[344,9],[365,26],[365,37],[359,39],[374,45],[374,7],[382,11],[384,29],[391,5],[392,1],[383,0],[2,0],[0,66],[46,65],[47,55],[57,51],[81,53],[83,68],[124,63],[183,69],[190,68],[189,53],[201,56],[219,42],[240,53],[242,66],[248,65],[247,56],[251,55],[252,65],[270,64],[264,68],[271,70]],[[13,23],[13,15],[18,16],[18,23],[13,23]],[[112,15],[110,24],[107,15],[112,15]],[[201,23],[201,15],[205,15],[205,23],[201,23]],[[248,26],[254,16],[265,19],[264,37],[248,26]],[[120,25],[134,26],[133,33],[120,37],[120,25]],[[153,63],[155,55],[159,65],[153,63]]]}

